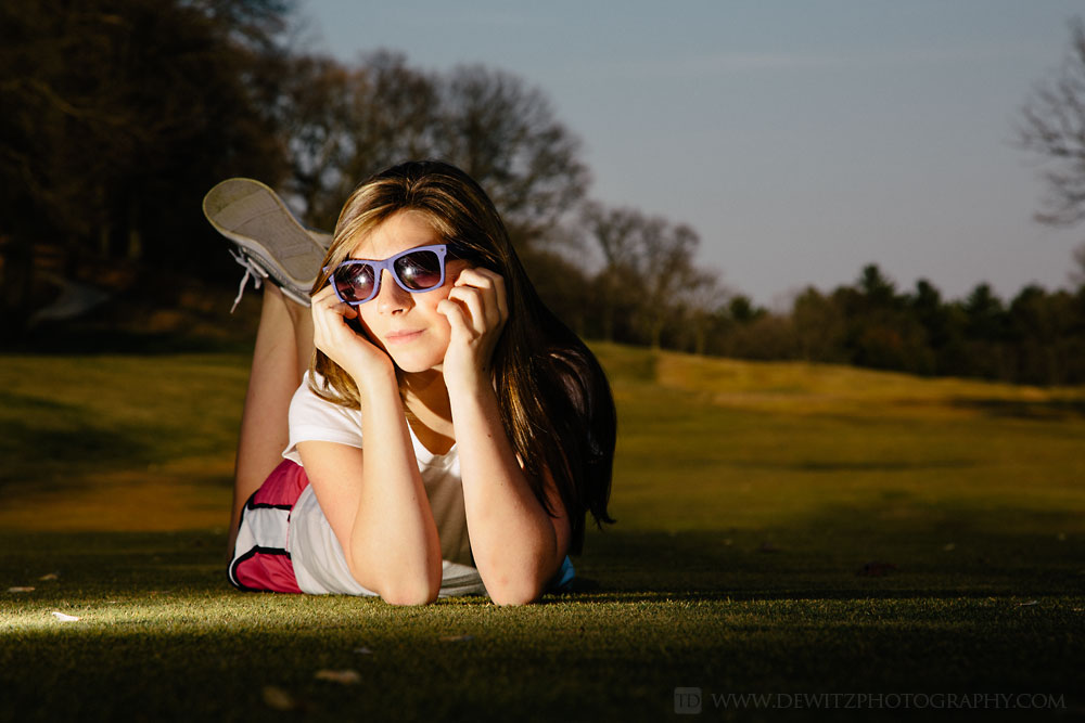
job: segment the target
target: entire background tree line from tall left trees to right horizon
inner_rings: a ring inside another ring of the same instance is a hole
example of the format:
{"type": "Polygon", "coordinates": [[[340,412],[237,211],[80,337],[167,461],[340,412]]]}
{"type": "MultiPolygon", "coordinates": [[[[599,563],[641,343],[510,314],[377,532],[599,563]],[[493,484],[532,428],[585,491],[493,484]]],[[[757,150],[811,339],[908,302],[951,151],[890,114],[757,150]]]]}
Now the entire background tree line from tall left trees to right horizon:
{"type": "MultiPolygon", "coordinates": [[[[43,296],[43,248],[74,277],[93,283],[102,269],[131,268],[168,294],[149,269],[235,274],[200,211],[217,181],[258,178],[307,223],[331,229],[373,171],[439,157],[487,190],[540,294],[583,335],[750,359],[1085,380],[1081,289],[1029,287],[1004,304],[980,285],[946,301],[927,282],[899,293],[871,266],[852,286],[810,288],[789,311],[768,312],[698,261],[701,240],[688,224],[590,198],[580,142],[539,89],[484,66],[424,70],[390,51],[353,63],[297,51],[292,22],[289,0],[0,5],[0,337],[17,335],[43,296]]],[[[1051,114],[1036,107],[1030,117],[1051,114]]],[[[1039,131],[1022,143],[1050,142],[1050,128],[1039,131]]]]}

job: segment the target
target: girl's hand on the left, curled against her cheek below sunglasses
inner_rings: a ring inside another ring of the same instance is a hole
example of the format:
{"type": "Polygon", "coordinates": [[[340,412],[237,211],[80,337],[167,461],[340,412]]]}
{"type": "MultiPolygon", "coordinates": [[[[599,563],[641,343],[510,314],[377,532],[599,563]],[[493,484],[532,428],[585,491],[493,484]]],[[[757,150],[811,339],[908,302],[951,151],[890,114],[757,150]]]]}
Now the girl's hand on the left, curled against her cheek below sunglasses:
{"type": "Polygon", "coordinates": [[[369,380],[395,379],[392,358],[350,328],[347,322],[358,318],[358,310],[340,301],[330,285],[312,295],[311,310],[314,345],[353,376],[359,389],[369,380]]]}

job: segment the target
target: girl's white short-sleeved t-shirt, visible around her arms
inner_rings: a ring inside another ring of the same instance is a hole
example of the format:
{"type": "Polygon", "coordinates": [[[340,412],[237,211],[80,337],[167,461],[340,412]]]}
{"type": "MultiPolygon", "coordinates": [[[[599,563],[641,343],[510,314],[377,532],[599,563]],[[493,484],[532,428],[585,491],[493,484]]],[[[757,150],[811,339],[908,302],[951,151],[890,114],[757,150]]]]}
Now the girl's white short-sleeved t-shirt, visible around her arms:
{"type": "MultiPolygon", "coordinates": [[[[485,594],[482,578],[471,559],[459,452],[454,446],[447,454],[433,454],[418,440],[413,429],[410,438],[441,538],[441,595],[485,594]]],[[[297,443],[305,441],[362,447],[361,412],[333,404],[315,395],[309,389],[308,372],[290,404],[290,444],[282,455],[302,464],[297,443]]],[[[288,548],[298,588],[303,592],[376,594],[359,585],[350,574],[343,547],[320,508],[311,485],[302,492],[290,514],[288,548]]]]}

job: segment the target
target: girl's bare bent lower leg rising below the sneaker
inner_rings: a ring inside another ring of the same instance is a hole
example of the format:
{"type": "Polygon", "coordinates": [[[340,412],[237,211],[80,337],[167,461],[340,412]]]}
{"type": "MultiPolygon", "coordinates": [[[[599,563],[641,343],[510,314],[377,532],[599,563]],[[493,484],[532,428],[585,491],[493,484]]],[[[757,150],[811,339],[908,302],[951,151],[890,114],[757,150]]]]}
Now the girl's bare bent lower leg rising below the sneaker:
{"type": "Polygon", "coordinates": [[[290,400],[308,369],[311,356],[312,318],[309,310],[288,300],[272,284],[265,285],[238,439],[230,516],[231,553],[241,508],[282,462],[282,451],[290,437],[290,400]]]}

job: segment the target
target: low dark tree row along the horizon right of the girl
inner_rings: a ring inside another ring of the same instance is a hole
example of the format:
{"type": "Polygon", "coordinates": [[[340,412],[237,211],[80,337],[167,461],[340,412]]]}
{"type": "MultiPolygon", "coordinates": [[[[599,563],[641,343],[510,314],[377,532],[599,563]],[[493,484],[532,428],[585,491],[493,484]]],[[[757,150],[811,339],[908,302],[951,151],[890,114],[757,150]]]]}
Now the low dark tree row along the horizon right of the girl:
{"type": "Polygon", "coordinates": [[[675,323],[668,346],[928,376],[1085,384],[1085,284],[1076,292],[1029,285],[1004,301],[981,283],[965,298],[944,299],[924,280],[901,292],[869,264],[855,283],[829,293],[808,287],[782,311],[735,296],[707,314],[707,325],[699,348],[695,327],[675,323]]]}

